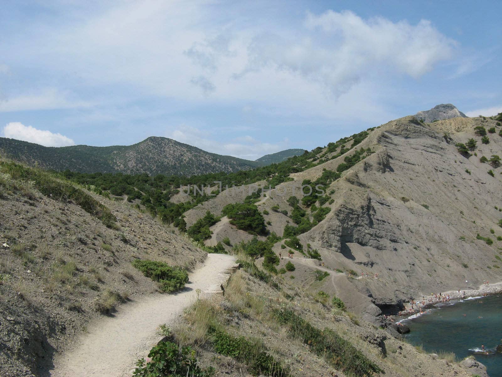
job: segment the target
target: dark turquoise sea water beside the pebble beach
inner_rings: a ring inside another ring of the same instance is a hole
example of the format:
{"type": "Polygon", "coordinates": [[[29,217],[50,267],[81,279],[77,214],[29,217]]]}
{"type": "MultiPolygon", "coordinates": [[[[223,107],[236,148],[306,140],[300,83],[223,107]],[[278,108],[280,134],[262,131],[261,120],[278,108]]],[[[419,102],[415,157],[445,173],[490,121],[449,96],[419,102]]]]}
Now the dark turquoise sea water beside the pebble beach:
{"type": "MultiPolygon", "coordinates": [[[[454,352],[464,358],[481,350],[495,351],[502,339],[502,295],[464,300],[404,321],[411,329],[406,338],[429,352],[454,352]],[[464,316],[465,314],[465,316],[464,316]],[[478,318],[482,317],[482,318],[478,318]]],[[[475,354],[490,377],[502,377],[502,354],[475,354]]]]}

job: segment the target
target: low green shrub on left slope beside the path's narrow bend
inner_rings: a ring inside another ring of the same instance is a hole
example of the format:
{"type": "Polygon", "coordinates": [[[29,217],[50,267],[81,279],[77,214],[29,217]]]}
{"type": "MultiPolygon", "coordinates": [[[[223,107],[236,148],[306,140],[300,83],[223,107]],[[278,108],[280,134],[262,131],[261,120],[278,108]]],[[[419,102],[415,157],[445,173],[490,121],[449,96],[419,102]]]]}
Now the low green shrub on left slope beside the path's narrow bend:
{"type": "Polygon", "coordinates": [[[166,293],[178,291],[188,282],[188,273],[185,270],[171,267],[164,262],[136,259],[133,266],[143,272],[145,276],[158,281],[161,290],[166,293]]]}

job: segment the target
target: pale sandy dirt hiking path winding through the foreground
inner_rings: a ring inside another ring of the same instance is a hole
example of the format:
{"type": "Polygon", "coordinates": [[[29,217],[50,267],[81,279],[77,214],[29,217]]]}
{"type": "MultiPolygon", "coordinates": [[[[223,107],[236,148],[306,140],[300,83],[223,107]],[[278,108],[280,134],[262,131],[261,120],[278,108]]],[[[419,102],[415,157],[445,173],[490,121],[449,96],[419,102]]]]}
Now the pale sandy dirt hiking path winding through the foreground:
{"type": "Polygon", "coordinates": [[[130,376],[136,360],[147,355],[160,335],[160,324],[173,324],[197,297],[210,286],[223,283],[226,270],[235,258],[226,254],[208,254],[204,264],[189,275],[186,288],[177,294],[155,294],[119,308],[114,317],[99,318],[89,324],[72,349],[58,356],[53,377],[130,376]]]}

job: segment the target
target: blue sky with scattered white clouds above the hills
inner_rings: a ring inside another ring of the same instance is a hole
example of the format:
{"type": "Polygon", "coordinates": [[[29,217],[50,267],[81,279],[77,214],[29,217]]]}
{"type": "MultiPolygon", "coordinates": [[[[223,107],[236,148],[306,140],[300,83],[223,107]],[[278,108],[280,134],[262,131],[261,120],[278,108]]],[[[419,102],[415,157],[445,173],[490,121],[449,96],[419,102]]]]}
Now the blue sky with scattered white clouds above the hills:
{"type": "Polygon", "coordinates": [[[502,112],[500,1],[0,2],[0,136],[255,160],[435,105],[502,112]]]}

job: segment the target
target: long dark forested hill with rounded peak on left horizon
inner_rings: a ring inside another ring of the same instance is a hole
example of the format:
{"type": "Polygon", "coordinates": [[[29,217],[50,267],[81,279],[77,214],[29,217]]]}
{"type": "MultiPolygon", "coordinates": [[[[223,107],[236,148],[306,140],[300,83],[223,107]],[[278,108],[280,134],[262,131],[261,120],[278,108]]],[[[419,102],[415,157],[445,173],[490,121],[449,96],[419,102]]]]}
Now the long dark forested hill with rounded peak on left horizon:
{"type": "Polygon", "coordinates": [[[194,175],[248,170],[264,163],[209,153],[164,137],[149,137],[134,145],[44,147],[0,138],[0,154],[29,165],[53,170],[149,175],[194,175]]]}

